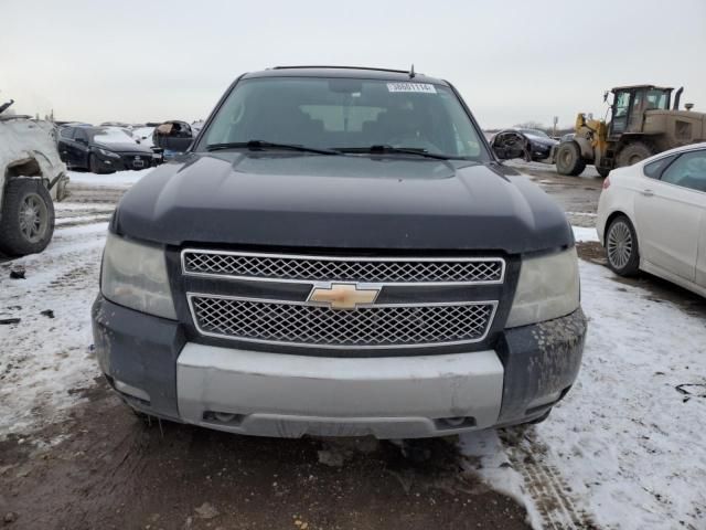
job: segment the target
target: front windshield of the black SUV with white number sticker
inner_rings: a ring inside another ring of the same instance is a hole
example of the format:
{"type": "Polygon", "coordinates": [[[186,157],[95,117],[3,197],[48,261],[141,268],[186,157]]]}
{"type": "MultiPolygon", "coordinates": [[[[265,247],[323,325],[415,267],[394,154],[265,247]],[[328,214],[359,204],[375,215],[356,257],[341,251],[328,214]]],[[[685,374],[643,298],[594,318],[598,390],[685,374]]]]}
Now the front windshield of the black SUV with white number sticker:
{"type": "Polygon", "coordinates": [[[381,80],[244,80],[196,150],[261,140],[319,149],[371,146],[489,160],[459,99],[446,86],[381,80]]]}

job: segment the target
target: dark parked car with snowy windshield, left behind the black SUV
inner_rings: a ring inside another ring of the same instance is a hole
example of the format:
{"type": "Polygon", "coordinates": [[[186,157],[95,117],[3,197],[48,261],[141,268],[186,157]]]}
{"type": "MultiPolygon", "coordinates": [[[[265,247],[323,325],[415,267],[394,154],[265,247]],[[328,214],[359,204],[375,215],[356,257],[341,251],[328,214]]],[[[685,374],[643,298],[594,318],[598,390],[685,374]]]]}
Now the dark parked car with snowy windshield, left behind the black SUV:
{"type": "Polygon", "coordinates": [[[58,153],[69,168],[94,173],[145,169],[161,161],[159,152],[141,146],[118,127],[62,127],[58,153]]]}

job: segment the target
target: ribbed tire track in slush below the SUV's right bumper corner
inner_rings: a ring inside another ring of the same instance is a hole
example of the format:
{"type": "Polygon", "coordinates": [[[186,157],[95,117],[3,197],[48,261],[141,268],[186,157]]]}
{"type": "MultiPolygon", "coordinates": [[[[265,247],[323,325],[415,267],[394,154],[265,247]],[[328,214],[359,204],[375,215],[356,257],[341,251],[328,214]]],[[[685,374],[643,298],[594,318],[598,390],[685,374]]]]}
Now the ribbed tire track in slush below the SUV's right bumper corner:
{"type": "Polygon", "coordinates": [[[547,463],[549,447],[537,439],[532,427],[501,436],[512,467],[523,478],[535,502],[543,528],[552,530],[598,530],[592,516],[575,502],[571,488],[559,469],[547,463]]]}

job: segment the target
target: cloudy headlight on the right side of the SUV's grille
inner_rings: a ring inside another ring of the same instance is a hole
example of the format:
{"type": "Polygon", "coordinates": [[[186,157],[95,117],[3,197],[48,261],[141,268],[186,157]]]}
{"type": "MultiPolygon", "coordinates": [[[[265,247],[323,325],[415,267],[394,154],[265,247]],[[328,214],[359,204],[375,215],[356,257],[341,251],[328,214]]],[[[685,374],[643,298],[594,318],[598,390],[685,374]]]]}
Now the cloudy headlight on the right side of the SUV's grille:
{"type": "Polygon", "coordinates": [[[565,317],[578,309],[579,296],[576,247],[525,258],[506,327],[565,317]]]}

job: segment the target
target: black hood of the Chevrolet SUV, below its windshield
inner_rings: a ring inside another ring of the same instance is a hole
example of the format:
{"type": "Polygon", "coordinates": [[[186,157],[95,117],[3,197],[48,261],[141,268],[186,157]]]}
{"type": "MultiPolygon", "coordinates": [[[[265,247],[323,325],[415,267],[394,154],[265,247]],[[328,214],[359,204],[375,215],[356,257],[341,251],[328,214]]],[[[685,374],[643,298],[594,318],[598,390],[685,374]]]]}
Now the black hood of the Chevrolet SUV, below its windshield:
{"type": "Polygon", "coordinates": [[[124,195],[110,230],[169,245],[525,253],[574,244],[564,212],[499,165],[271,152],[161,166],[124,195]]]}

